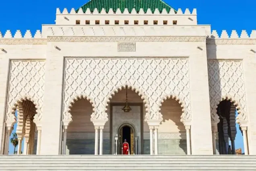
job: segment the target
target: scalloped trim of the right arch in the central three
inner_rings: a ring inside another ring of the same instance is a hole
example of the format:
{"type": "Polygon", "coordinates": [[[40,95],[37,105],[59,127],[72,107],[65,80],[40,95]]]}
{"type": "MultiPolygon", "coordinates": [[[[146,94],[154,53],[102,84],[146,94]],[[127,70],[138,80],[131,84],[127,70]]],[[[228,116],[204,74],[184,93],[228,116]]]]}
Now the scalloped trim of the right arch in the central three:
{"type": "Polygon", "coordinates": [[[185,106],[185,102],[183,100],[181,100],[178,96],[176,95],[173,95],[173,94],[169,94],[167,96],[164,96],[161,100],[161,102],[159,103],[159,106],[158,106],[158,112],[159,112],[159,120],[162,122],[163,121],[163,115],[161,114],[161,106],[163,105],[163,103],[168,100],[168,99],[174,99],[175,101],[177,101],[180,106],[182,107],[182,115],[180,116],[180,121],[182,123],[185,124],[185,122],[190,122],[190,118],[187,118],[186,115],[187,115],[187,110],[186,110],[186,106],[185,106]]]}

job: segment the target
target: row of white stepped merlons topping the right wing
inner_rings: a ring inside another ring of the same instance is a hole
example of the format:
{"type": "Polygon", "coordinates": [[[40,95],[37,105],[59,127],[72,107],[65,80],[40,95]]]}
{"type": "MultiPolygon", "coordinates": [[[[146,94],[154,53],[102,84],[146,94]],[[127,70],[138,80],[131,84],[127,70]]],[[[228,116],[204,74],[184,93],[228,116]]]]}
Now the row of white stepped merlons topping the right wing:
{"type": "Polygon", "coordinates": [[[252,33],[250,36],[246,32],[246,30],[243,30],[240,36],[237,34],[237,31],[233,30],[231,32],[231,35],[228,35],[226,30],[223,30],[221,32],[221,35],[219,36],[216,30],[213,30],[211,36],[209,38],[215,38],[215,39],[256,39],[256,30],[252,30],[252,33]]]}

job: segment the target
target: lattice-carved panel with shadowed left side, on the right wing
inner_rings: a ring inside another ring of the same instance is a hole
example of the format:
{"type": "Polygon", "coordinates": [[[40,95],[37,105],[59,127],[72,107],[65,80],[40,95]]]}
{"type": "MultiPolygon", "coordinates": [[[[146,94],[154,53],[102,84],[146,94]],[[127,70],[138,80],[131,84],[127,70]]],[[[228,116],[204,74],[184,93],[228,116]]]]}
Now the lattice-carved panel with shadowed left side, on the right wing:
{"type": "Polygon", "coordinates": [[[236,106],[237,123],[247,122],[243,61],[209,59],[207,63],[212,122],[219,122],[217,105],[222,100],[230,100],[236,106]]]}

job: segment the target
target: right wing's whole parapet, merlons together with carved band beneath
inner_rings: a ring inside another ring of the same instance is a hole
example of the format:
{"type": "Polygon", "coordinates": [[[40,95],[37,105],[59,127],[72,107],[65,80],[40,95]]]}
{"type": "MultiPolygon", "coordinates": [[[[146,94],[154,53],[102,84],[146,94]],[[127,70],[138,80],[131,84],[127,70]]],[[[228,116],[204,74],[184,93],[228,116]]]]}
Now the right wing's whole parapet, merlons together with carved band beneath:
{"type": "Polygon", "coordinates": [[[226,30],[223,30],[219,35],[216,30],[213,30],[211,35],[206,38],[208,45],[256,45],[256,30],[247,33],[243,30],[241,34],[233,30],[229,35],[226,30]]]}

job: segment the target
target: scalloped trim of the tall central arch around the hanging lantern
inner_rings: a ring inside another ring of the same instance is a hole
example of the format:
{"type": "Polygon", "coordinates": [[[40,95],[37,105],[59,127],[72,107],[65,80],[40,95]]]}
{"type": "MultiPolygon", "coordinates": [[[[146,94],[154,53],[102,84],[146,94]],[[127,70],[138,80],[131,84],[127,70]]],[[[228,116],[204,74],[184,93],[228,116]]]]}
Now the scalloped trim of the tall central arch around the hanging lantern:
{"type": "Polygon", "coordinates": [[[138,88],[136,88],[134,85],[130,85],[130,84],[124,84],[124,85],[121,85],[117,88],[115,88],[114,90],[111,91],[111,93],[109,94],[109,96],[107,96],[107,101],[105,102],[105,118],[106,118],[106,121],[108,120],[107,119],[107,109],[108,109],[108,104],[110,103],[111,99],[118,93],[120,92],[121,90],[125,89],[125,88],[128,88],[132,91],[134,91],[136,94],[138,94],[138,96],[140,96],[140,98],[143,100],[143,104],[145,106],[145,120],[149,120],[150,118],[150,109],[149,109],[149,102],[147,100],[147,96],[145,96],[145,94],[139,90],[138,88]]]}

